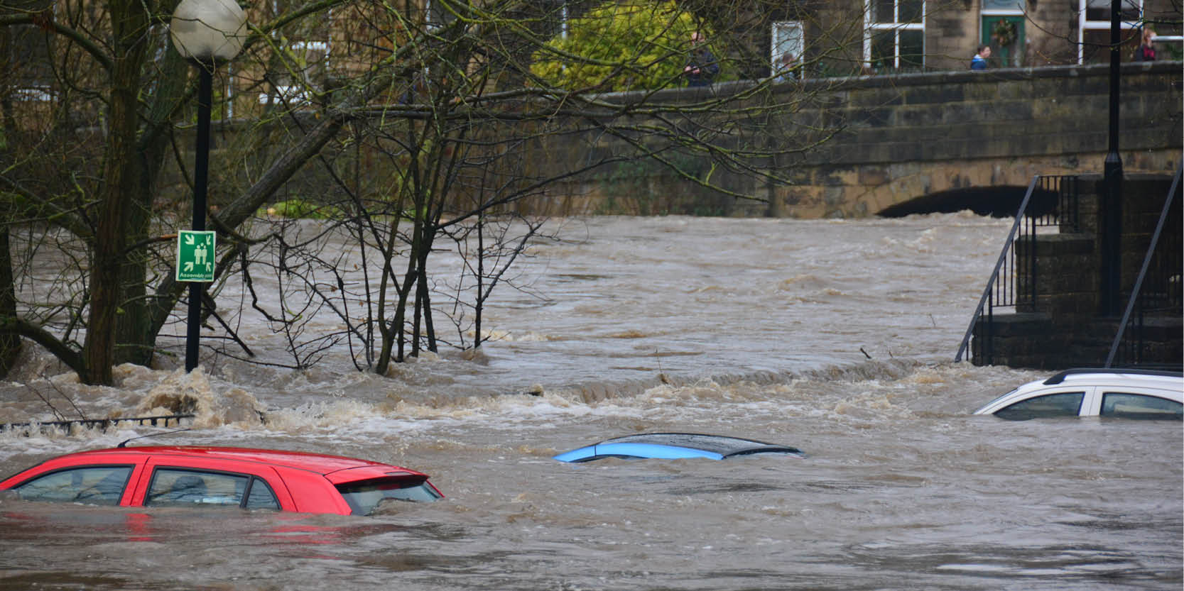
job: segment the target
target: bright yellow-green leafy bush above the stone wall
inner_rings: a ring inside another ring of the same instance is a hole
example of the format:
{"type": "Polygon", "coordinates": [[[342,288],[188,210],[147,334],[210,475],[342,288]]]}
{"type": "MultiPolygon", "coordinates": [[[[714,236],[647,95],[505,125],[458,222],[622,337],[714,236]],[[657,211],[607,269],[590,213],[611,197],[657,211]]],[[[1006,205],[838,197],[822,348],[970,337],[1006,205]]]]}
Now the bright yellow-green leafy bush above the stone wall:
{"type": "Polygon", "coordinates": [[[708,47],[712,39],[710,31],[670,0],[609,1],[572,19],[568,31],[535,52],[530,66],[548,86],[565,90],[681,86],[690,34],[704,33],[708,47]]]}

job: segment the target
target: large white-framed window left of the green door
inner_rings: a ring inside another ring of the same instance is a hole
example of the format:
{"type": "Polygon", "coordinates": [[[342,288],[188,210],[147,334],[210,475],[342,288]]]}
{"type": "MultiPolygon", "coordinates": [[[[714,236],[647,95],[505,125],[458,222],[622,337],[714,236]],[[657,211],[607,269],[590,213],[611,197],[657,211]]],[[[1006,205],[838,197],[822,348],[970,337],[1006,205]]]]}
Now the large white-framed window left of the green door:
{"type": "Polygon", "coordinates": [[[876,71],[925,66],[925,0],[870,0],[863,59],[876,71]]]}

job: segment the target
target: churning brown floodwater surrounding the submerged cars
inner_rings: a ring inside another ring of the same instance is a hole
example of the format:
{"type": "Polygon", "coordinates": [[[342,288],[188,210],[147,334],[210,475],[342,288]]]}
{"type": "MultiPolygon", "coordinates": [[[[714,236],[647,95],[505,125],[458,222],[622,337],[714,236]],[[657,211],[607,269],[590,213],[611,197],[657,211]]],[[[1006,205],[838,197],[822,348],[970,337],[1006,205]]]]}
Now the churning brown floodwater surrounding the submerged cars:
{"type": "MultiPolygon", "coordinates": [[[[302,372],[208,356],[193,375],[122,366],[117,388],[94,388],[27,355],[0,385],[0,421],[50,420],[51,403],[130,415],[189,394],[200,401],[192,430],[141,441],[398,463],[431,474],[446,499],[359,518],[2,496],[0,589],[1184,583],[1179,422],[971,416],[1045,375],[951,361],[1009,221],[554,223],[560,240],[532,248],[521,288],[496,292],[484,325],[497,340],[478,356],[442,351],[391,377],[354,371],[347,351],[302,372]],[[734,435],[807,456],[552,460],[639,431],[734,435]]],[[[240,320],[260,359],[282,361],[264,323],[240,320]]],[[[163,430],[0,434],[0,473],[163,430]]]]}

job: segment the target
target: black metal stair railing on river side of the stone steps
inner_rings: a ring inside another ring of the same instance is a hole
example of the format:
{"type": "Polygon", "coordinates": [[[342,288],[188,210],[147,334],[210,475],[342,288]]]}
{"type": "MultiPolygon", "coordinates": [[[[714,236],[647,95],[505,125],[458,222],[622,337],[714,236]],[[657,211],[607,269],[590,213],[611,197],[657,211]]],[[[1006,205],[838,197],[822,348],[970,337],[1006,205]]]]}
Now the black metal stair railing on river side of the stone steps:
{"type": "Polygon", "coordinates": [[[995,262],[995,269],[986,280],[983,297],[979,298],[974,314],[970,319],[966,335],[958,346],[954,362],[963,361],[970,348],[974,325],[985,313],[986,323],[980,335],[983,342],[973,353],[973,363],[977,365],[993,363],[995,310],[998,307],[1012,307],[1016,312],[1036,310],[1036,287],[1040,280],[1036,266],[1037,228],[1056,226],[1062,233],[1079,232],[1080,212],[1076,176],[1032,177],[1024,199],[1019,202],[1011,232],[1003,242],[999,259],[995,262]]]}

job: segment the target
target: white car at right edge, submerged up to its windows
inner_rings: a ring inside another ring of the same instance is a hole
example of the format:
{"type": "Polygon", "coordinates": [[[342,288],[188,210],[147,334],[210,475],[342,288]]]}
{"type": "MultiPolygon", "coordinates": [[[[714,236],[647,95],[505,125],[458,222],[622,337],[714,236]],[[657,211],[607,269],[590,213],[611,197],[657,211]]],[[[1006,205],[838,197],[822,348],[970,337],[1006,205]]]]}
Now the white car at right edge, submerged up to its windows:
{"type": "Polygon", "coordinates": [[[1023,421],[1054,416],[1184,418],[1179,371],[1074,369],[1029,382],[974,411],[1023,421]]]}

